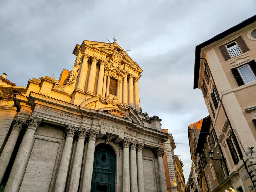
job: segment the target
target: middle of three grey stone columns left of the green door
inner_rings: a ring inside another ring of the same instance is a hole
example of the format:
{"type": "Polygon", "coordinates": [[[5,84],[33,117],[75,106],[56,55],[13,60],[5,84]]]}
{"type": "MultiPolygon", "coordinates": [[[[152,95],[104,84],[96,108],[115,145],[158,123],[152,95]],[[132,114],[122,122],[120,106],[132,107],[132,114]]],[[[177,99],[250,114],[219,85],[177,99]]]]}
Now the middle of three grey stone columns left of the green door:
{"type": "Polygon", "coordinates": [[[84,152],[84,139],[87,133],[88,131],[85,130],[84,128],[78,129],[78,141],[75,149],[74,163],[73,163],[71,177],[70,177],[69,192],[78,191],[80,171],[81,171],[83,152],[84,152]]]}

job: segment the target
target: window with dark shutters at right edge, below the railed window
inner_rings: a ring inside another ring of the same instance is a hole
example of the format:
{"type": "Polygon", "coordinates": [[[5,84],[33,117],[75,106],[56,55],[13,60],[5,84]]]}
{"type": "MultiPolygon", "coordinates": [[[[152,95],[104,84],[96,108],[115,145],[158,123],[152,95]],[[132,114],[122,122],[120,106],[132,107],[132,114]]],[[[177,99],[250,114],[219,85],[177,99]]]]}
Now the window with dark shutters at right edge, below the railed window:
{"type": "Polygon", "coordinates": [[[232,68],[231,71],[239,86],[256,80],[256,63],[254,60],[240,67],[232,68]]]}

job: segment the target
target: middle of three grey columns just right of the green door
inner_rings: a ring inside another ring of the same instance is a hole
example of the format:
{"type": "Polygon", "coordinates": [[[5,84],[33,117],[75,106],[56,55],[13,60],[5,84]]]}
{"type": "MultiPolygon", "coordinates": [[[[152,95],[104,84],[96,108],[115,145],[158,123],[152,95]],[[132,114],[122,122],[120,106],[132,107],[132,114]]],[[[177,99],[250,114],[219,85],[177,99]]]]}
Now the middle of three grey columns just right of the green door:
{"type": "Polygon", "coordinates": [[[130,191],[138,192],[138,184],[137,184],[137,165],[136,165],[136,148],[138,142],[131,141],[131,150],[130,150],[130,191]]]}

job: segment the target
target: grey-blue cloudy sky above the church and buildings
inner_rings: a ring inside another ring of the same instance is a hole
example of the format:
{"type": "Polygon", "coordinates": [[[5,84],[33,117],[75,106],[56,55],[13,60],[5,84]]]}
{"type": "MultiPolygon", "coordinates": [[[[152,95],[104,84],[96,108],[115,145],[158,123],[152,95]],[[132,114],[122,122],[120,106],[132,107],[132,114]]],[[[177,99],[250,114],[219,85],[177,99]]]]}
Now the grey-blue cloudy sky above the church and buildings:
{"type": "Polygon", "coordinates": [[[208,115],[193,89],[195,46],[256,14],[255,0],[8,0],[0,2],[0,73],[18,86],[71,70],[83,40],[117,43],[144,70],[143,112],[172,133],[187,181],[187,127],[208,115]],[[179,131],[174,131],[179,130],[179,131]]]}

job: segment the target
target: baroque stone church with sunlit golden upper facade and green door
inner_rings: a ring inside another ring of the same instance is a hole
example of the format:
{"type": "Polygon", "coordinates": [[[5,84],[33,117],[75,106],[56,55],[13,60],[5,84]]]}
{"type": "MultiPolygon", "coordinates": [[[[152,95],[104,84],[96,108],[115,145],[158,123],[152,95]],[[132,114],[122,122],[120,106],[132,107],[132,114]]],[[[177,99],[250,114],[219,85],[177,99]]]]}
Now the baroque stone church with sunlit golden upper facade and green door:
{"type": "MultiPolygon", "coordinates": [[[[32,78],[15,93],[2,134],[1,189],[166,192],[167,134],[140,107],[142,69],[115,41],[84,40],[73,54],[74,67],[59,80],[32,78]]],[[[0,103],[2,114],[9,108],[0,103]]]]}

